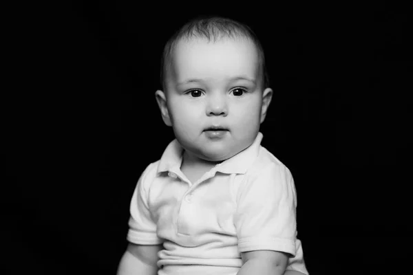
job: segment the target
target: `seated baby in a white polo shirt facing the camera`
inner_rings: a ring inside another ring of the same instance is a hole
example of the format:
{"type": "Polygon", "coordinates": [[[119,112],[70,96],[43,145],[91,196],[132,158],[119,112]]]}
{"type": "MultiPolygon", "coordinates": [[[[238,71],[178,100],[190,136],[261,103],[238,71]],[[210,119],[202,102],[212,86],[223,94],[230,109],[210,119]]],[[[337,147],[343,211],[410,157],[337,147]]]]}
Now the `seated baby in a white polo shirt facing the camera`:
{"type": "Polygon", "coordinates": [[[169,40],[156,100],[176,139],[140,176],[118,275],[308,274],[293,177],[260,145],[272,96],[246,25],[194,19],[169,40]]]}

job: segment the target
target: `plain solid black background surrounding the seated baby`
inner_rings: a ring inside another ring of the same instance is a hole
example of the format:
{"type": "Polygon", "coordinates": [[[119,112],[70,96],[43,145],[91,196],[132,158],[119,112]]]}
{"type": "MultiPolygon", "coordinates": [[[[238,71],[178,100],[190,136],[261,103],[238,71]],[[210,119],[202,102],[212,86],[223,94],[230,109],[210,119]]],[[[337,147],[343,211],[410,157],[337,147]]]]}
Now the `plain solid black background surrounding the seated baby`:
{"type": "Polygon", "coordinates": [[[20,7],[6,25],[3,274],[116,273],[136,181],[173,139],[154,98],[162,47],[210,13],[251,25],[264,45],[275,95],[263,145],[295,177],[310,274],[403,271],[412,241],[405,7],[129,2],[20,7]]]}

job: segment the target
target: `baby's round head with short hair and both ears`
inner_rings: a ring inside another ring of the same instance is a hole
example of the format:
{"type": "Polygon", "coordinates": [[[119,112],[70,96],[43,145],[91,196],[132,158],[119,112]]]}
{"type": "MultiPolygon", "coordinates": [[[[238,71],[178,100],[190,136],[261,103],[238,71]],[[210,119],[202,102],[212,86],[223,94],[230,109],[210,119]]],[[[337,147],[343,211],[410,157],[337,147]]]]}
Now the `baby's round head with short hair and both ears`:
{"type": "Polygon", "coordinates": [[[165,45],[162,119],[193,157],[222,162],[250,146],[273,91],[255,34],[231,19],[195,19],[165,45]]]}

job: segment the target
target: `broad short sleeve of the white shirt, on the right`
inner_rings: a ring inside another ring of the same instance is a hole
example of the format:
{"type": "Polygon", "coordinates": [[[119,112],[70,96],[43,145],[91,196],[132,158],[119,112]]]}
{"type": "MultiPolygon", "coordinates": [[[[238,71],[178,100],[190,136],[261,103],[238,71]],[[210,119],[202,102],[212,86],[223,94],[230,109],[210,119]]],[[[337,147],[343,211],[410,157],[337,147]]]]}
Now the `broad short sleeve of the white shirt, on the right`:
{"type": "Polygon", "coordinates": [[[271,162],[246,176],[234,217],[240,252],[273,250],[296,254],[296,194],[284,165],[271,162]]]}

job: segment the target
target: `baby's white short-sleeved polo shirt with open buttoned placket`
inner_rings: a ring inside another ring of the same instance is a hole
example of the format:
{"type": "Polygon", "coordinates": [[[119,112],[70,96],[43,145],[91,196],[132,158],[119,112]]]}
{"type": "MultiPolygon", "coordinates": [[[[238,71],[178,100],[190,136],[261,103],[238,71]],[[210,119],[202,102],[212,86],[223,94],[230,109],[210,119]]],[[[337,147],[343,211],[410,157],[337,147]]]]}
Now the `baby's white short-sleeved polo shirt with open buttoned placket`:
{"type": "Polygon", "coordinates": [[[231,159],[191,183],[177,140],[140,176],[127,240],[163,243],[160,275],[235,275],[240,252],[290,254],[287,270],[308,274],[296,238],[297,199],[290,170],[262,147],[262,133],[231,159]]]}

